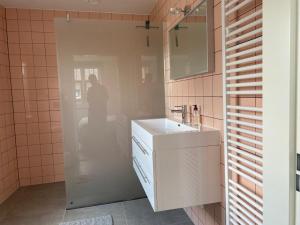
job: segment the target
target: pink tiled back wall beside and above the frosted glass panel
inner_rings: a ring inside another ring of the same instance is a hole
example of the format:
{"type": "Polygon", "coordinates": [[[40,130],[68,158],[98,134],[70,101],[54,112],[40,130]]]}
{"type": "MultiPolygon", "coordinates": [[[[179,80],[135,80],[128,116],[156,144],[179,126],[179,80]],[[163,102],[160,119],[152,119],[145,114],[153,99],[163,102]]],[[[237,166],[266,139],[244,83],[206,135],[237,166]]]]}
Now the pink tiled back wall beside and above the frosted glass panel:
{"type": "MultiPolygon", "coordinates": [[[[69,12],[72,18],[148,16],[69,12]]],[[[20,185],[64,180],[54,18],[65,11],[6,9],[20,185]]]]}

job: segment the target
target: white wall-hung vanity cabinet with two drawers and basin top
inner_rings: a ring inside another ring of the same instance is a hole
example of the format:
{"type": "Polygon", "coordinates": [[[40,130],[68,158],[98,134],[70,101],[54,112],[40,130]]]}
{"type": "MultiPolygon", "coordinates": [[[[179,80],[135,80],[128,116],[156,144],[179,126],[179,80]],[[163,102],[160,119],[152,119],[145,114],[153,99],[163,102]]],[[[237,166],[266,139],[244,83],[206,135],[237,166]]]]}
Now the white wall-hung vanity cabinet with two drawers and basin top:
{"type": "Polygon", "coordinates": [[[132,121],[132,158],[154,211],[221,201],[217,130],[168,119],[132,121]]]}

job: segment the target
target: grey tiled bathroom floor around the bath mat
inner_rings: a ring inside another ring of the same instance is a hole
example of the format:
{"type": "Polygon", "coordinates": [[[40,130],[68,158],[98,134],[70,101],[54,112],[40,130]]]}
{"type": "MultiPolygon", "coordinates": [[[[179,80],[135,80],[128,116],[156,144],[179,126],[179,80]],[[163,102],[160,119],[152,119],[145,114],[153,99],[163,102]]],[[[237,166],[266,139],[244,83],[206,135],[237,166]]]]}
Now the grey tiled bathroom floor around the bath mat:
{"type": "Polygon", "coordinates": [[[114,225],[193,225],[182,209],[154,213],[147,199],[66,211],[64,183],[19,189],[0,205],[0,224],[58,225],[108,214],[114,225]]]}

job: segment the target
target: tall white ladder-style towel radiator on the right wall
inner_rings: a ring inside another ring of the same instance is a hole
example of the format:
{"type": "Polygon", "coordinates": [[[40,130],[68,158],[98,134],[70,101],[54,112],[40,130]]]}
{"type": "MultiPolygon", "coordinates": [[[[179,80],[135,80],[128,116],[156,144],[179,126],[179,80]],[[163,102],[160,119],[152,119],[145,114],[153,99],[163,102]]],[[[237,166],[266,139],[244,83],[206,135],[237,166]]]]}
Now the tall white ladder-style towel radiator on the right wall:
{"type": "Polygon", "coordinates": [[[263,224],[262,9],[223,0],[226,224],[263,224]]]}

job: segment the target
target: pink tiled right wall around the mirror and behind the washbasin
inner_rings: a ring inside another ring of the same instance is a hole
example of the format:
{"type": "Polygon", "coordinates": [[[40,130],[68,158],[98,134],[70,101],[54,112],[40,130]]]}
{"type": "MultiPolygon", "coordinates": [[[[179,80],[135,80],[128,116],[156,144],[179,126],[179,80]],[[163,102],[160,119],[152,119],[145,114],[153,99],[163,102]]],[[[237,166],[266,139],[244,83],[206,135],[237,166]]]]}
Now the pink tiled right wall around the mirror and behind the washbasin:
{"type": "MultiPolygon", "coordinates": [[[[172,118],[170,109],[175,105],[197,104],[201,108],[203,125],[223,130],[223,90],[222,90],[222,45],[221,45],[221,0],[214,1],[214,37],[215,37],[215,69],[212,74],[195,76],[182,80],[170,80],[168,30],[180,19],[179,16],[168,14],[169,8],[176,4],[183,7],[185,4],[193,4],[199,1],[159,0],[154,8],[151,18],[164,22],[164,57],[165,57],[165,90],[166,90],[166,114],[172,118]]],[[[222,144],[223,149],[223,144],[222,144]]],[[[220,170],[224,174],[223,151],[221,151],[220,170]]],[[[224,179],[220,192],[224,195],[224,179]]],[[[186,209],[187,214],[195,225],[222,225],[225,224],[225,205],[211,204],[186,209]]]]}

